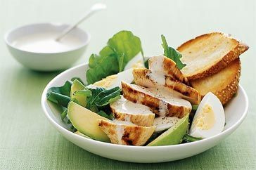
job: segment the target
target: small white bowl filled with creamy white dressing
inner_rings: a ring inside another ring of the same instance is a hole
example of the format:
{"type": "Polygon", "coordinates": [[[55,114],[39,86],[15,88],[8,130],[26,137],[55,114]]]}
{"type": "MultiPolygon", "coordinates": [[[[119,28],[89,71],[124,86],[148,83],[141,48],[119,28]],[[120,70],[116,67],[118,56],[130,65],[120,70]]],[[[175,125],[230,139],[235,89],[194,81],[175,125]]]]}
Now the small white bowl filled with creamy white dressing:
{"type": "Polygon", "coordinates": [[[19,63],[32,70],[64,70],[75,63],[89,44],[88,32],[75,27],[60,41],[56,37],[70,27],[65,24],[39,23],[8,32],[8,50],[19,63]]]}

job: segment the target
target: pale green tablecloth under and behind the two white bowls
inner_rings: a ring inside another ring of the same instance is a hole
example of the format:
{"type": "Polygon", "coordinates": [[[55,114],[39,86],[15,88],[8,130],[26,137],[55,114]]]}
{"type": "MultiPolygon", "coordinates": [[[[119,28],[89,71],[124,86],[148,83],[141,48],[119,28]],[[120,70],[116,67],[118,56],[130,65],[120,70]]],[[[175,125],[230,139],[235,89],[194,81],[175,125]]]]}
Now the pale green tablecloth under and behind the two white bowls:
{"type": "MultiPolygon", "coordinates": [[[[241,84],[248,92],[248,117],[229,138],[195,157],[162,164],[117,162],[93,155],[53,129],[41,110],[44,86],[58,72],[27,70],[0,41],[0,169],[256,169],[255,135],[255,1],[105,1],[108,10],[80,27],[91,33],[84,57],[98,52],[119,30],[141,37],[146,55],[162,53],[160,34],[169,44],[211,31],[242,39],[250,50],[243,56],[241,84]]],[[[94,1],[1,0],[0,35],[31,22],[72,22],[94,1]]],[[[169,153],[170,155],[172,153],[169,153]]]]}

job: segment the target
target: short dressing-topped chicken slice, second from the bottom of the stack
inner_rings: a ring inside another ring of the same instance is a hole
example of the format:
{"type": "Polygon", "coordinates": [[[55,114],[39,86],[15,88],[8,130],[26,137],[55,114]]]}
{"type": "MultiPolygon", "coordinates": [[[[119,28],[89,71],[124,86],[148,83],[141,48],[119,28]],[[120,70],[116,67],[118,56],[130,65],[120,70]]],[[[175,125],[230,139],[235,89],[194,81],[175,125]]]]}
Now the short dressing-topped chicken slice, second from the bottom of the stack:
{"type": "Polygon", "coordinates": [[[155,114],[146,105],[133,103],[123,96],[110,104],[115,119],[129,121],[138,126],[153,126],[155,114]]]}

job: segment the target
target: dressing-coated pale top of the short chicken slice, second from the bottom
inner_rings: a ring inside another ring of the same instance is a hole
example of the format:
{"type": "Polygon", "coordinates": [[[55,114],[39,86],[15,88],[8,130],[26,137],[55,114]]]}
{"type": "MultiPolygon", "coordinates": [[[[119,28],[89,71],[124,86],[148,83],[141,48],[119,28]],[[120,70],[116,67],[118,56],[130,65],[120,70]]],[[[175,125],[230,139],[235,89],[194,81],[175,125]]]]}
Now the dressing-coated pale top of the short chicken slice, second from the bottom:
{"type": "MultiPolygon", "coordinates": [[[[111,103],[110,105],[113,109],[115,109],[115,112],[121,112],[126,113],[130,115],[136,115],[136,114],[153,114],[149,107],[146,105],[141,105],[139,103],[133,103],[129,100],[126,100],[123,96],[115,103],[111,103]]],[[[127,115],[125,119],[130,120],[130,116],[127,115]]]]}

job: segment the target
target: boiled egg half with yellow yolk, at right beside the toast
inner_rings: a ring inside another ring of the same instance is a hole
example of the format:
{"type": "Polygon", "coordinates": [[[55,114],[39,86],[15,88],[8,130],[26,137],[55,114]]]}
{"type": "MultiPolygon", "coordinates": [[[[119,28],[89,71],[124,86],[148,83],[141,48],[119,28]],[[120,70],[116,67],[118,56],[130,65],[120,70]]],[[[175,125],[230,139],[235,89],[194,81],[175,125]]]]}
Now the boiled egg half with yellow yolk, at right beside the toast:
{"type": "Polygon", "coordinates": [[[191,124],[190,135],[209,138],[221,133],[225,125],[225,115],[219,98],[209,92],[205,95],[191,124]]]}

